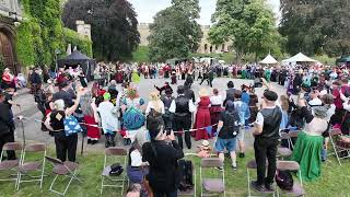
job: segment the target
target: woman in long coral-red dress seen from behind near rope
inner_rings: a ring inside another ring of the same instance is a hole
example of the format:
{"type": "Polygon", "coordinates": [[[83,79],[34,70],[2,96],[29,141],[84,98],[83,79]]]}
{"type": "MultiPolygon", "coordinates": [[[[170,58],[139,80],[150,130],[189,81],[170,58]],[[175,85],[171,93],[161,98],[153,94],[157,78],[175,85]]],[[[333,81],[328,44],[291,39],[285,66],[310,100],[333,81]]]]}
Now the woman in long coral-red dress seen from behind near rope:
{"type": "Polygon", "coordinates": [[[205,127],[208,127],[211,125],[210,121],[210,97],[209,93],[206,89],[201,89],[199,91],[199,101],[198,101],[198,108],[197,108],[197,115],[196,115],[196,121],[195,121],[195,129],[202,128],[195,131],[195,138],[196,141],[201,139],[208,139],[210,136],[208,135],[205,127]]]}

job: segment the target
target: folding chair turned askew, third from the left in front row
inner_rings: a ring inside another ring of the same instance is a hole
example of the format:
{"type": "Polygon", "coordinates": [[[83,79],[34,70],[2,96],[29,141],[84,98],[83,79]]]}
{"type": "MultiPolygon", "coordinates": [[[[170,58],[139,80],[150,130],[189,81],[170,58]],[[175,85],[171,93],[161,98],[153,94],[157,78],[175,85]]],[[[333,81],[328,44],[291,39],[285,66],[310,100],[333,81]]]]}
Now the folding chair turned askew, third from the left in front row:
{"type": "Polygon", "coordinates": [[[49,161],[54,165],[52,172],[54,172],[54,174],[56,174],[56,176],[50,185],[50,188],[49,188],[50,192],[56,193],[61,196],[65,196],[73,179],[82,183],[75,174],[77,170],[79,167],[78,163],[70,162],[70,161],[62,162],[59,159],[50,158],[50,157],[45,157],[45,158],[47,161],[49,161]],[[69,177],[69,182],[68,182],[63,193],[55,190],[52,188],[58,176],[69,177]]]}

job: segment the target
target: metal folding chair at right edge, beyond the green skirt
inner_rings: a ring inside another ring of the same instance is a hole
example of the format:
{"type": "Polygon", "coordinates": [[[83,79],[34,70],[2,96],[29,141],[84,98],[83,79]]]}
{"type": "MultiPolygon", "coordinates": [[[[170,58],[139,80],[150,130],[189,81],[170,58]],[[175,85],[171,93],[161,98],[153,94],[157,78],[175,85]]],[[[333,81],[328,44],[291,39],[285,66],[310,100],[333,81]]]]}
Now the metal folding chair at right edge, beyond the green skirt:
{"type": "Polygon", "coordinates": [[[339,165],[341,165],[340,159],[350,158],[350,146],[341,143],[339,139],[342,137],[342,132],[340,129],[331,129],[329,131],[329,141],[332,147],[332,152],[328,151],[328,155],[336,154],[339,165]],[[341,157],[340,153],[346,152],[345,157],[341,157]]]}

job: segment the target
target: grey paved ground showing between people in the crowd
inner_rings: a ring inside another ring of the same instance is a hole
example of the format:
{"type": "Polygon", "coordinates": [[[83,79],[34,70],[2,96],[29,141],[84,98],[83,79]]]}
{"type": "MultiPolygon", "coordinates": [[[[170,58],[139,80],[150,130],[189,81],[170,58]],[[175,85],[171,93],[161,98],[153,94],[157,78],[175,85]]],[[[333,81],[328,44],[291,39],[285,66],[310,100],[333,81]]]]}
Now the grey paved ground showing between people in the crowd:
{"type": "MultiPolygon", "coordinates": [[[[241,80],[241,79],[228,79],[228,78],[219,78],[214,79],[213,81],[213,86],[219,90],[221,94],[224,94],[224,91],[226,90],[226,84],[228,82],[232,80],[234,82],[235,88],[240,89],[242,84],[250,84],[253,83],[252,80],[241,80]]],[[[156,79],[156,80],[151,80],[151,79],[142,79],[141,82],[138,84],[138,90],[140,96],[144,97],[144,100],[149,99],[150,92],[154,91],[155,89],[153,88],[154,84],[158,86],[162,86],[164,84],[165,79],[156,79]]],[[[178,84],[183,84],[184,81],[180,80],[178,81],[178,84]]],[[[192,90],[198,97],[198,92],[200,88],[208,88],[209,86],[205,85],[207,84],[206,82],[202,85],[199,85],[199,81],[195,81],[192,84],[192,90]]],[[[278,84],[272,84],[273,89],[276,92],[278,92],[279,95],[284,94],[285,90],[283,86],[280,86],[278,84]]],[[[177,85],[172,85],[173,90],[176,92],[177,85]]],[[[212,89],[210,89],[211,91],[212,89]]],[[[256,93],[259,97],[261,97],[264,92],[264,89],[256,89],[256,93]]],[[[176,95],[176,94],[174,94],[176,95]]],[[[16,103],[19,103],[22,107],[23,115],[25,117],[28,117],[30,119],[24,120],[24,130],[25,130],[25,137],[30,141],[39,141],[39,142],[46,142],[48,144],[54,144],[54,138],[51,138],[48,132],[43,132],[40,130],[40,124],[36,123],[35,119],[40,119],[42,115],[36,108],[36,103],[34,102],[34,97],[32,94],[28,93],[22,93],[18,97],[14,99],[16,103]]],[[[21,114],[21,111],[19,107],[13,106],[13,112],[14,115],[18,116],[21,114]]],[[[18,120],[16,120],[18,121],[18,120]]],[[[16,130],[15,130],[15,137],[18,141],[22,141],[22,127],[20,123],[16,123],[16,130]]],[[[247,146],[252,144],[253,142],[253,137],[252,135],[247,134],[246,135],[246,141],[247,146]]],[[[79,143],[81,143],[81,140],[79,140],[79,143]]],[[[195,142],[196,144],[196,142],[195,142]]],[[[80,147],[80,144],[79,144],[80,147]]],[[[95,146],[85,146],[86,150],[103,150],[104,148],[104,138],[100,141],[100,143],[95,146]]],[[[79,148],[80,151],[80,148],[79,148]]],[[[187,150],[186,150],[187,152],[187,150]]]]}

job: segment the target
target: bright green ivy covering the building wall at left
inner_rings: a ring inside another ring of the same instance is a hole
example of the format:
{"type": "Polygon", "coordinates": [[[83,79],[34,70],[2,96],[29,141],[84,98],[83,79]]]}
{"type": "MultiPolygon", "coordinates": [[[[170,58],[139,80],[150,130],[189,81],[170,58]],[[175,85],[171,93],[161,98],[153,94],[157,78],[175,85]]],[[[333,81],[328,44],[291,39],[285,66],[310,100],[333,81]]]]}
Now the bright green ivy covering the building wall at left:
{"type": "Polygon", "coordinates": [[[16,54],[22,66],[54,65],[55,50],[66,51],[68,44],[92,57],[92,42],[63,27],[60,0],[20,2],[25,20],[16,27],[16,54]]]}

